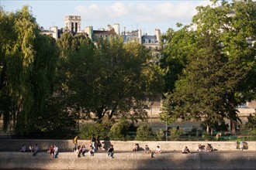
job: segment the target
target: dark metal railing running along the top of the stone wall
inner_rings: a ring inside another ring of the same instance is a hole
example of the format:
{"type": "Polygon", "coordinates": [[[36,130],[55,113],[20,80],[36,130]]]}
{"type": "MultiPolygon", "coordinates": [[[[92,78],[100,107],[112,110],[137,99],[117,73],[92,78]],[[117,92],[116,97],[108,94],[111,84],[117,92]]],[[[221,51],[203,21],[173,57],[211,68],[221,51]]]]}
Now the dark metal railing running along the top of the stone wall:
{"type": "MultiPolygon", "coordinates": [[[[76,132],[79,134],[79,131],[76,132]]],[[[28,138],[28,139],[72,139],[76,134],[67,133],[55,133],[55,134],[29,134],[29,135],[15,135],[9,131],[6,134],[0,134],[1,138],[28,138]]],[[[137,141],[137,131],[128,131],[126,136],[130,141],[137,141]]],[[[111,139],[110,139],[111,140],[111,139]]],[[[182,133],[171,133],[170,131],[164,131],[161,129],[151,131],[144,138],[144,141],[256,141],[256,131],[237,131],[235,134],[229,132],[215,131],[213,134],[206,134],[206,131],[182,131],[182,133]],[[221,133],[217,139],[216,134],[221,133]]]]}

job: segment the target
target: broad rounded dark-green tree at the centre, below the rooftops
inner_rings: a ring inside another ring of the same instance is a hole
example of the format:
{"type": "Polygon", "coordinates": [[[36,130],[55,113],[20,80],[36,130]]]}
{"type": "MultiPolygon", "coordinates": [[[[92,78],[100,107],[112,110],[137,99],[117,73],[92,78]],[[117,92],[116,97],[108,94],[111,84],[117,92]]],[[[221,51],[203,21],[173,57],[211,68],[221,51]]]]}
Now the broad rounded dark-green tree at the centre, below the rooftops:
{"type": "Polygon", "coordinates": [[[70,53],[67,66],[72,105],[81,107],[85,115],[93,113],[98,122],[113,116],[129,117],[132,121],[144,119],[145,94],[159,87],[159,79],[152,77],[161,77],[154,73],[157,69],[149,65],[148,59],[144,46],[124,45],[118,37],[102,39],[97,49],[81,46],[70,53]]]}

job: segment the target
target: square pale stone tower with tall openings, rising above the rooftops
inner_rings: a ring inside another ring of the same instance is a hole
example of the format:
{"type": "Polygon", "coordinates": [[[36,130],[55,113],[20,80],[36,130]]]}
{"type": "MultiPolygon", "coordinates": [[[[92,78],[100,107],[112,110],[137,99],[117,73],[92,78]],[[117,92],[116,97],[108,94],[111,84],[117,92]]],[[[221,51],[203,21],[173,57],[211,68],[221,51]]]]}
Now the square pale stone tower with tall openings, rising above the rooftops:
{"type": "Polygon", "coordinates": [[[68,15],[65,16],[65,29],[70,32],[81,32],[81,16],[68,15]]]}

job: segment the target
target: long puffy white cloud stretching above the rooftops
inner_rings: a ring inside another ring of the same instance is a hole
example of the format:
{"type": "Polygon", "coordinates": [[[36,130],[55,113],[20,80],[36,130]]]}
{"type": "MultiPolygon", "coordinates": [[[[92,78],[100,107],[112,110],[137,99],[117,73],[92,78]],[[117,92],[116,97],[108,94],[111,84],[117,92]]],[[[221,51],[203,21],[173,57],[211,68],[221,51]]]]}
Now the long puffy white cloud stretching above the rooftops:
{"type": "Polygon", "coordinates": [[[147,2],[114,2],[111,5],[92,4],[88,7],[80,5],[75,10],[81,13],[86,20],[115,19],[128,17],[134,22],[164,22],[180,20],[180,22],[192,19],[196,14],[197,5],[209,5],[209,1],[171,1],[159,2],[154,5],[147,2]]]}

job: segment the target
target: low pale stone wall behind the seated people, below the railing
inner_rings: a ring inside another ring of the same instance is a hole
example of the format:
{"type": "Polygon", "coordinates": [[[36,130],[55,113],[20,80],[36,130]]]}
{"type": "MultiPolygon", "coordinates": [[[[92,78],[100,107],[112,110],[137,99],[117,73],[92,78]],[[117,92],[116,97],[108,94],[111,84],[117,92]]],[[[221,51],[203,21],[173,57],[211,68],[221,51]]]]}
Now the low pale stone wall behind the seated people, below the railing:
{"type": "MultiPolygon", "coordinates": [[[[151,150],[160,146],[163,151],[182,151],[188,146],[191,151],[196,151],[199,144],[210,143],[218,151],[237,151],[237,141],[101,141],[106,150],[109,145],[114,145],[116,151],[131,151],[134,143],[138,143],[143,150],[148,145],[151,150]]],[[[47,151],[50,145],[57,145],[60,151],[71,151],[74,147],[72,140],[42,140],[42,139],[0,139],[0,151],[19,151],[22,145],[37,144],[41,151],[47,151]]],[[[89,148],[90,141],[78,140],[78,145],[89,148]]],[[[256,151],[256,141],[245,141],[245,150],[256,151]]]]}

